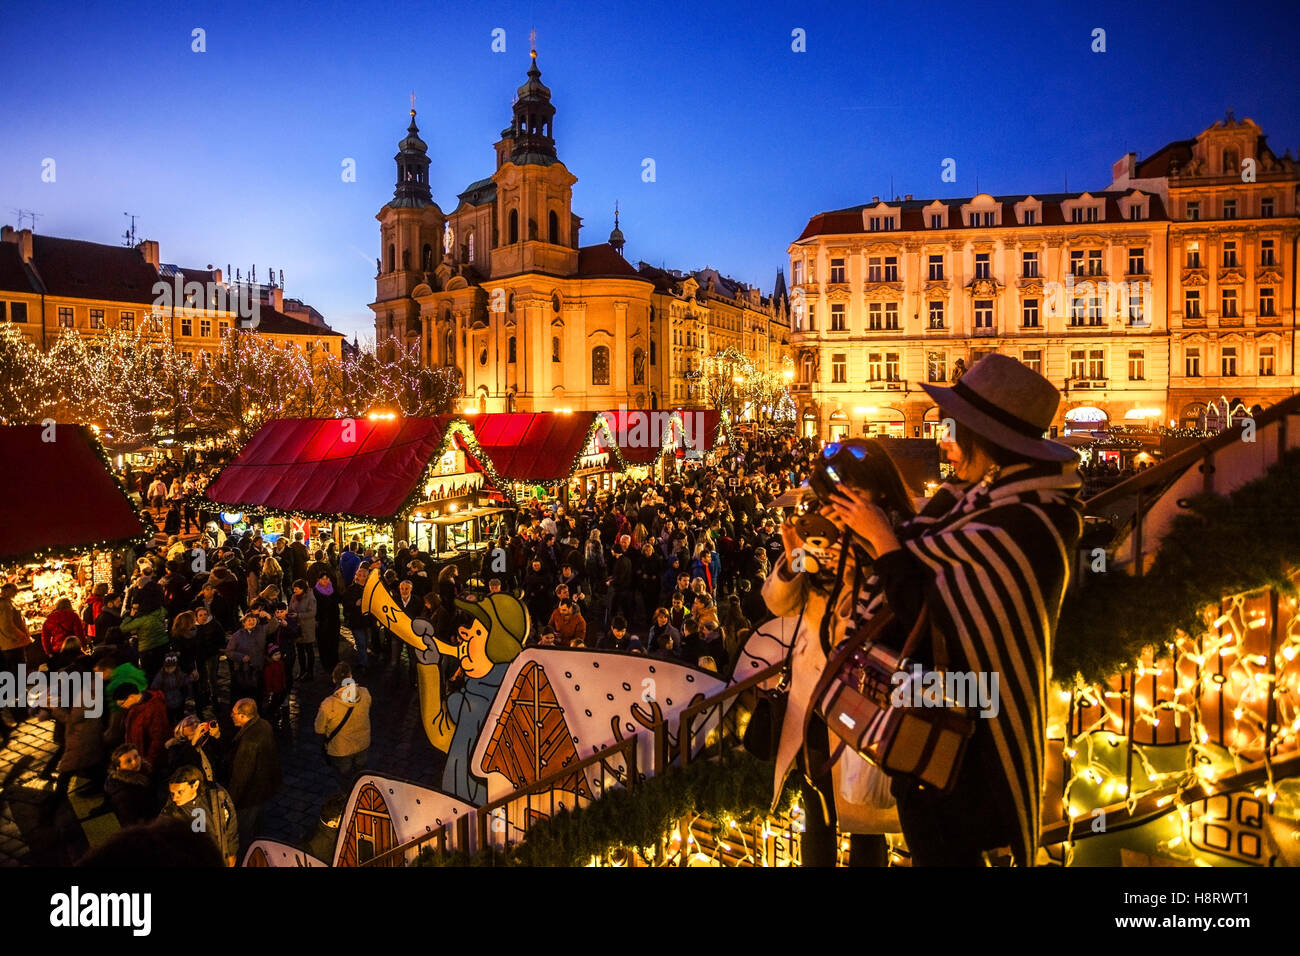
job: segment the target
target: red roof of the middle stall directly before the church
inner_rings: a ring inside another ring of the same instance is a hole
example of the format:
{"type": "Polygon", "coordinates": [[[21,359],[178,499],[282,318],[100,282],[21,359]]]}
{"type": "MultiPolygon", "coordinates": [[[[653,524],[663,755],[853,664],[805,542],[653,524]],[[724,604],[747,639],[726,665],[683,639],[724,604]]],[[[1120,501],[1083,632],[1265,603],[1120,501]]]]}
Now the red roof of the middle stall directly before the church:
{"type": "MultiPolygon", "coordinates": [[[[506,481],[559,481],[582,457],[594,411],[515,411],[471,416],[484,454],[506,481]]],[[[611,460],[611,464],[616,462],[611,460]]]]}

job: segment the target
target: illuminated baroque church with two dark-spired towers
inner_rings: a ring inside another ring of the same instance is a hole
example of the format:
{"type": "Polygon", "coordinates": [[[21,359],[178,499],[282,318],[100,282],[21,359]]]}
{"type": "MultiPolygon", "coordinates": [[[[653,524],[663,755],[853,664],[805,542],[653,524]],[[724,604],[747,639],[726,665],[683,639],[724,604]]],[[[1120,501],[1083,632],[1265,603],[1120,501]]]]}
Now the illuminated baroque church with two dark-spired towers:
{"type": "MultiPolygon", "coordinates": [[[[396,189],[376,219],[376,342],[419,346],[426,365],[454,365],[462,408],[575,411],[655,408],[664,401],[647,356],[655,285],[607,242],[581,246],[573,176],[555,151],[555,107],[537,51],[495,172],[443,212],[429,189],[416,111],[398,146],[396,189]]],[[[459,411],[459,410],[458,410],[459,411]]]]}

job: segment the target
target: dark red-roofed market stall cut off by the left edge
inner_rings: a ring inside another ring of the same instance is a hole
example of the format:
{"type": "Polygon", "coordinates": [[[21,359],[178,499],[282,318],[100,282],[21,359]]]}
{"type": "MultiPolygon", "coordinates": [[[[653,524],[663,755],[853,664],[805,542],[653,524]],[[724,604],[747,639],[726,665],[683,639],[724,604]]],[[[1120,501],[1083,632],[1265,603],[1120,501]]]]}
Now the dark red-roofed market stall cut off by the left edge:
{"type": "Polygon", "coordinates": [[[117,583],[124,551],[153,535],[103,446],[82,425],[0,428],[0,575],[39,633],[60,598],[81,607],[117,583]]]}

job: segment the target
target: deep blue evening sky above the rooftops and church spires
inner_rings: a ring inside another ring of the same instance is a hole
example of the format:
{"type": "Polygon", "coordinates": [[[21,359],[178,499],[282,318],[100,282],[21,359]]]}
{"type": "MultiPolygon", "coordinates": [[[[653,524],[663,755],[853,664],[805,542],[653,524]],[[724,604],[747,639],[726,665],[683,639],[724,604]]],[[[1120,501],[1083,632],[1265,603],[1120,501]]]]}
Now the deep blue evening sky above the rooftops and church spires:
{"type": "Polygon", "coordinates": [[[582,245],[618,200],[633,264],[770,291],[810,216],[890,181],[916,198],[1101,189],[1126,151],[1227,107],[1295,155],[1297,23],[1295,3],[1200,0],[6,3],[0,221],[35,209],[40,233],[112,243],[133,212],[164,261],[283,269],[286,294],[364,337],[410,92],[450,211],[493,172],[536,27],[582,245]]]}

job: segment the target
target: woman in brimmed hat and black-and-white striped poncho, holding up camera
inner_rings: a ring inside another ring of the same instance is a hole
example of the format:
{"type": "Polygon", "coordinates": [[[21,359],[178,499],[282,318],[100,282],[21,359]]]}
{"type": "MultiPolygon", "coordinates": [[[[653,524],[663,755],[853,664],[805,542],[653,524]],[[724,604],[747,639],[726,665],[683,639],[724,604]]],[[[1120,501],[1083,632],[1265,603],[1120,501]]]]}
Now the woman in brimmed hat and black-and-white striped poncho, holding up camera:
{"type": "MultiPolygon", "coordinates": [[[[898,648],[927,609],[949,666],[997,674],[998,700],[975,719],[952,792],[904,777],[892,791],[915,865],[978,866],[1008,845],[1032,865],[1052,639],[1083,529],[1075,454],[1043,437],[1060,393],[1015,359],[992,354],[952,388],[923,388],[945,419],[953,480],[897,533],[853,489],[836,512],[878,555],[862,614],[894,613],[884,643],[898,648]]],[[[931,665],[931,653],[923,644],[914,659],[931,665]]]]}

